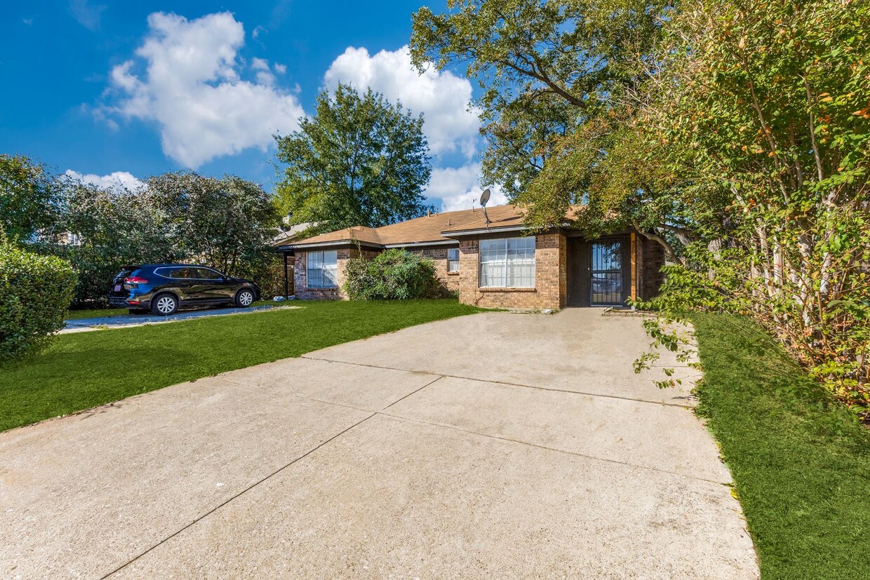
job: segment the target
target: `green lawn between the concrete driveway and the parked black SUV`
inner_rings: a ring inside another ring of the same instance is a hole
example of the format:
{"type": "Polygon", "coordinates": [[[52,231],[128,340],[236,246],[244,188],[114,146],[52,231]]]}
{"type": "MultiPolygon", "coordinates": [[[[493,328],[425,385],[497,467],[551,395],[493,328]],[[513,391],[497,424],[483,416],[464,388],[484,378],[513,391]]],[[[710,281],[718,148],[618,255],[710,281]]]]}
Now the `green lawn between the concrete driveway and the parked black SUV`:
{"type": "Polygon", "coordinates": [[[303,308],[60,335],[43,353],[0,366],[0,430],[480,311],[456,300],[294,305],[303,308]]]}

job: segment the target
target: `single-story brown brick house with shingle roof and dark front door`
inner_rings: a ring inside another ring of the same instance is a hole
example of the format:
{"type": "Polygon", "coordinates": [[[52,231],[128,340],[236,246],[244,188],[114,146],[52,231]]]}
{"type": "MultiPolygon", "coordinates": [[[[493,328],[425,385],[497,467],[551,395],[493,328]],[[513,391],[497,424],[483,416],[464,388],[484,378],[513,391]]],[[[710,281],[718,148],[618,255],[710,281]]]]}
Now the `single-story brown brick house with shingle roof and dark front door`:
{"type": "MultiPolygon", "coordinates": [[[[573,208],[571,212],[576,211],[573,208]]],[[[566,224],[570,223],[569,212],[566,224]]],[[[531,235],[512,205],[447,211],[380,228],[354,227],[279,246],[295,257],[302,300],[345,298],[345,263],[389,248],[421,252],[463,303],[496,308],[619,306],[658,291],[665,254],[634,230],[587,239],[553,227],[531,235]]]]}

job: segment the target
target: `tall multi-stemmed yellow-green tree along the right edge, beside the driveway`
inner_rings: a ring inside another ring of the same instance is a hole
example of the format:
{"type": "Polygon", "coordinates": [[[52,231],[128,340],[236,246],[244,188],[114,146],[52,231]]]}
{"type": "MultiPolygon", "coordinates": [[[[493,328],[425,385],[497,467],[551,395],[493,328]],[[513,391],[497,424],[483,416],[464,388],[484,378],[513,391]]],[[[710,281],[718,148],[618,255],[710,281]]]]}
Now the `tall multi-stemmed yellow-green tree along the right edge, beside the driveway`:
{"type": "Polygon", "coordinates": [[[865,409],[868,87],[866,0],[687,0],[640,113],[673,183],[726,197],[691,200],[699,242],[667,305],[750,313],[865,409]]]}

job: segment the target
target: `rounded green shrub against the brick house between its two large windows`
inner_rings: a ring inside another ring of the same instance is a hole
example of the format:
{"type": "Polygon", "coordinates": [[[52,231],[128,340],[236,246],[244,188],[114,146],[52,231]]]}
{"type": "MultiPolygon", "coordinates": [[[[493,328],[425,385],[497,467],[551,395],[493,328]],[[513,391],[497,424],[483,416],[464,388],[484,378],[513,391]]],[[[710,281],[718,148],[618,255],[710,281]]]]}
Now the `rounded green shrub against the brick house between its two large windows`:
{"type": "Polygon", "coordinates": [[[443,290],[432,260],[399,248],[371,260],[351,258],[345,266],[345,291],[351,300],[438,297],[443,290]]]}

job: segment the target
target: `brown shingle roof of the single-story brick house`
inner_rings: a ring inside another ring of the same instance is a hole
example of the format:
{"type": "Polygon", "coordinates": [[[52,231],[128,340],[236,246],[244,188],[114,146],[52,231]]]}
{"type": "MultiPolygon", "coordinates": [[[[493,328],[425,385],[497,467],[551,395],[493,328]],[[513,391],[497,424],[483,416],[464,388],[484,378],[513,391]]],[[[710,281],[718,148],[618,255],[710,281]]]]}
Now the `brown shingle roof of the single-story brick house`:
{"type": "MultiPolygon", "coordinates": [[[[573,217],[577,206],[572,206],[566,217],[573,217]]],[[[454,237],[478,233],[483,230],[524,230],[524,213],[515,205],[497,205],[484,210],[445,211],[424,217],[392,223],[379,228],[356,226],[335,230],[319,236],[308,237],[292,243],[285,248],[304,248],[308,246],[340,245],[360,243],[362,245],[389,248],[414,244],[456,243],[454,237]],[[489,217],[489,224],[486,223],[489,217]]]]}

